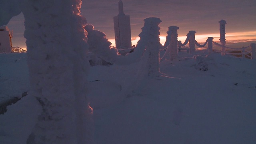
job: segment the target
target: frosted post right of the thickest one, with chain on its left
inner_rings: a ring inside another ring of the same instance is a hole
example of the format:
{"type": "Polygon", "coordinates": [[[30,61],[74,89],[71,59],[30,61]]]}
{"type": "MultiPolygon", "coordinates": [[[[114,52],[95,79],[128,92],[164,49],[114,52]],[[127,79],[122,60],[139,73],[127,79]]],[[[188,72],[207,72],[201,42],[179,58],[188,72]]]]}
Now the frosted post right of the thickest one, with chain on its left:
{"type": "Polygon", "coordinates": [[[169,42],[166,52],[164,53],[164,56],[162,56],[162,60],[166,58],[166,56],[169,54],[170,60],[176,60],[178,58],[178,26],[169,26],[168,32],[166,36],[166,43],[164,45],[167,45],[167,42],[169,42]]]}

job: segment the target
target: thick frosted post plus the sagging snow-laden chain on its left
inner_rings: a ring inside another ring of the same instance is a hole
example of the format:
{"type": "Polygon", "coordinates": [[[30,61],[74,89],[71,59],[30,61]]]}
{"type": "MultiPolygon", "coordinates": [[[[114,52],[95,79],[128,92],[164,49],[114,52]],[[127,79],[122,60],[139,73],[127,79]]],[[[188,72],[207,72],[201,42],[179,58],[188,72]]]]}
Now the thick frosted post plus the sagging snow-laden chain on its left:
{"type": "Polygon", "coordinates": [[[88,31],[89,49],[97,57],[106,60],[106,62],[118,65],[131,64],[144,59],[146,62],[143,64],[143,66],[146,66],[143,70],[146,73],[145,75],[150,78],[160,76],[159,50],[162,48],[162,44],[160,44],[160,27],[158,25],[161,22],[159,18],[146,18],[142,32],[139,34],[140,40],[134,52],[126,56],[120,55],[116,48],[111,48],[111,43],[106,38],[106,35],[103,32],[94,30],[94,27],[88,24],[85,29],[88,31]]]}

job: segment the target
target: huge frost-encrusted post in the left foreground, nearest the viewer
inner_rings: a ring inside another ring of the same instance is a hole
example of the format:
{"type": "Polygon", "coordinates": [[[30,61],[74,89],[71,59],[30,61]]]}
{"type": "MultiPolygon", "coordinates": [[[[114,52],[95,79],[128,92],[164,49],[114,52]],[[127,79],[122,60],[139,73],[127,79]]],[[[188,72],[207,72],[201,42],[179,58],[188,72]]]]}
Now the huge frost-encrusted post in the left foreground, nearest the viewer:
{"type": "Polygon", "coordinates": [[[34,130],[19,143],[92,143],[92,108],[86,99],[90,66],[86,59],[86,19],[80,16],[82,1],[13,0],[3,4],[0,26],[20,12],[24,14],[31,85],[28,96],[42,107],[34,130]]]}

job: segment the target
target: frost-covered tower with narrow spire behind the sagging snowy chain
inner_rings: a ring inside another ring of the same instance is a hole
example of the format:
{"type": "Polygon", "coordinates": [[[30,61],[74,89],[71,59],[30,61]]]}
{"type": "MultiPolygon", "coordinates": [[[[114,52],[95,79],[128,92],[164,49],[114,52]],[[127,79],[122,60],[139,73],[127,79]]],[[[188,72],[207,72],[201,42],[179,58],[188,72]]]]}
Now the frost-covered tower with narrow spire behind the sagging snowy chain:
{"type": "Polygon", "coordinates": [[[114,30],[116,39],[116,48],[131,48],[131,25],[130,16],[124,14],[123,2],[118,2],[118,15],[114,16],[114,30]]]}

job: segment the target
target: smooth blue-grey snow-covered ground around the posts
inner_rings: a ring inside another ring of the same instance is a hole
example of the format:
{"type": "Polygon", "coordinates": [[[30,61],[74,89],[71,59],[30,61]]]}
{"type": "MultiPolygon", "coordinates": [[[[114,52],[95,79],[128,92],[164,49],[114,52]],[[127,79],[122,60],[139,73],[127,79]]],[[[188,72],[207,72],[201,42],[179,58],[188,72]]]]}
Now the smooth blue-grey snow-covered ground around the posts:
{"type": "MultiPolygon", "coordinates": [[[[203,52],[163,60],[164,76],[153,79],[142,78],[143,62],[91,67],[95,143],[254,144],[256,60],[203,52]]],[[[29,90],[26,60],[0,54],[0,103],[29,90]]],[[[25,144],[40,105],[28,92],[7,109],[0,144],[25,144]]]]}

